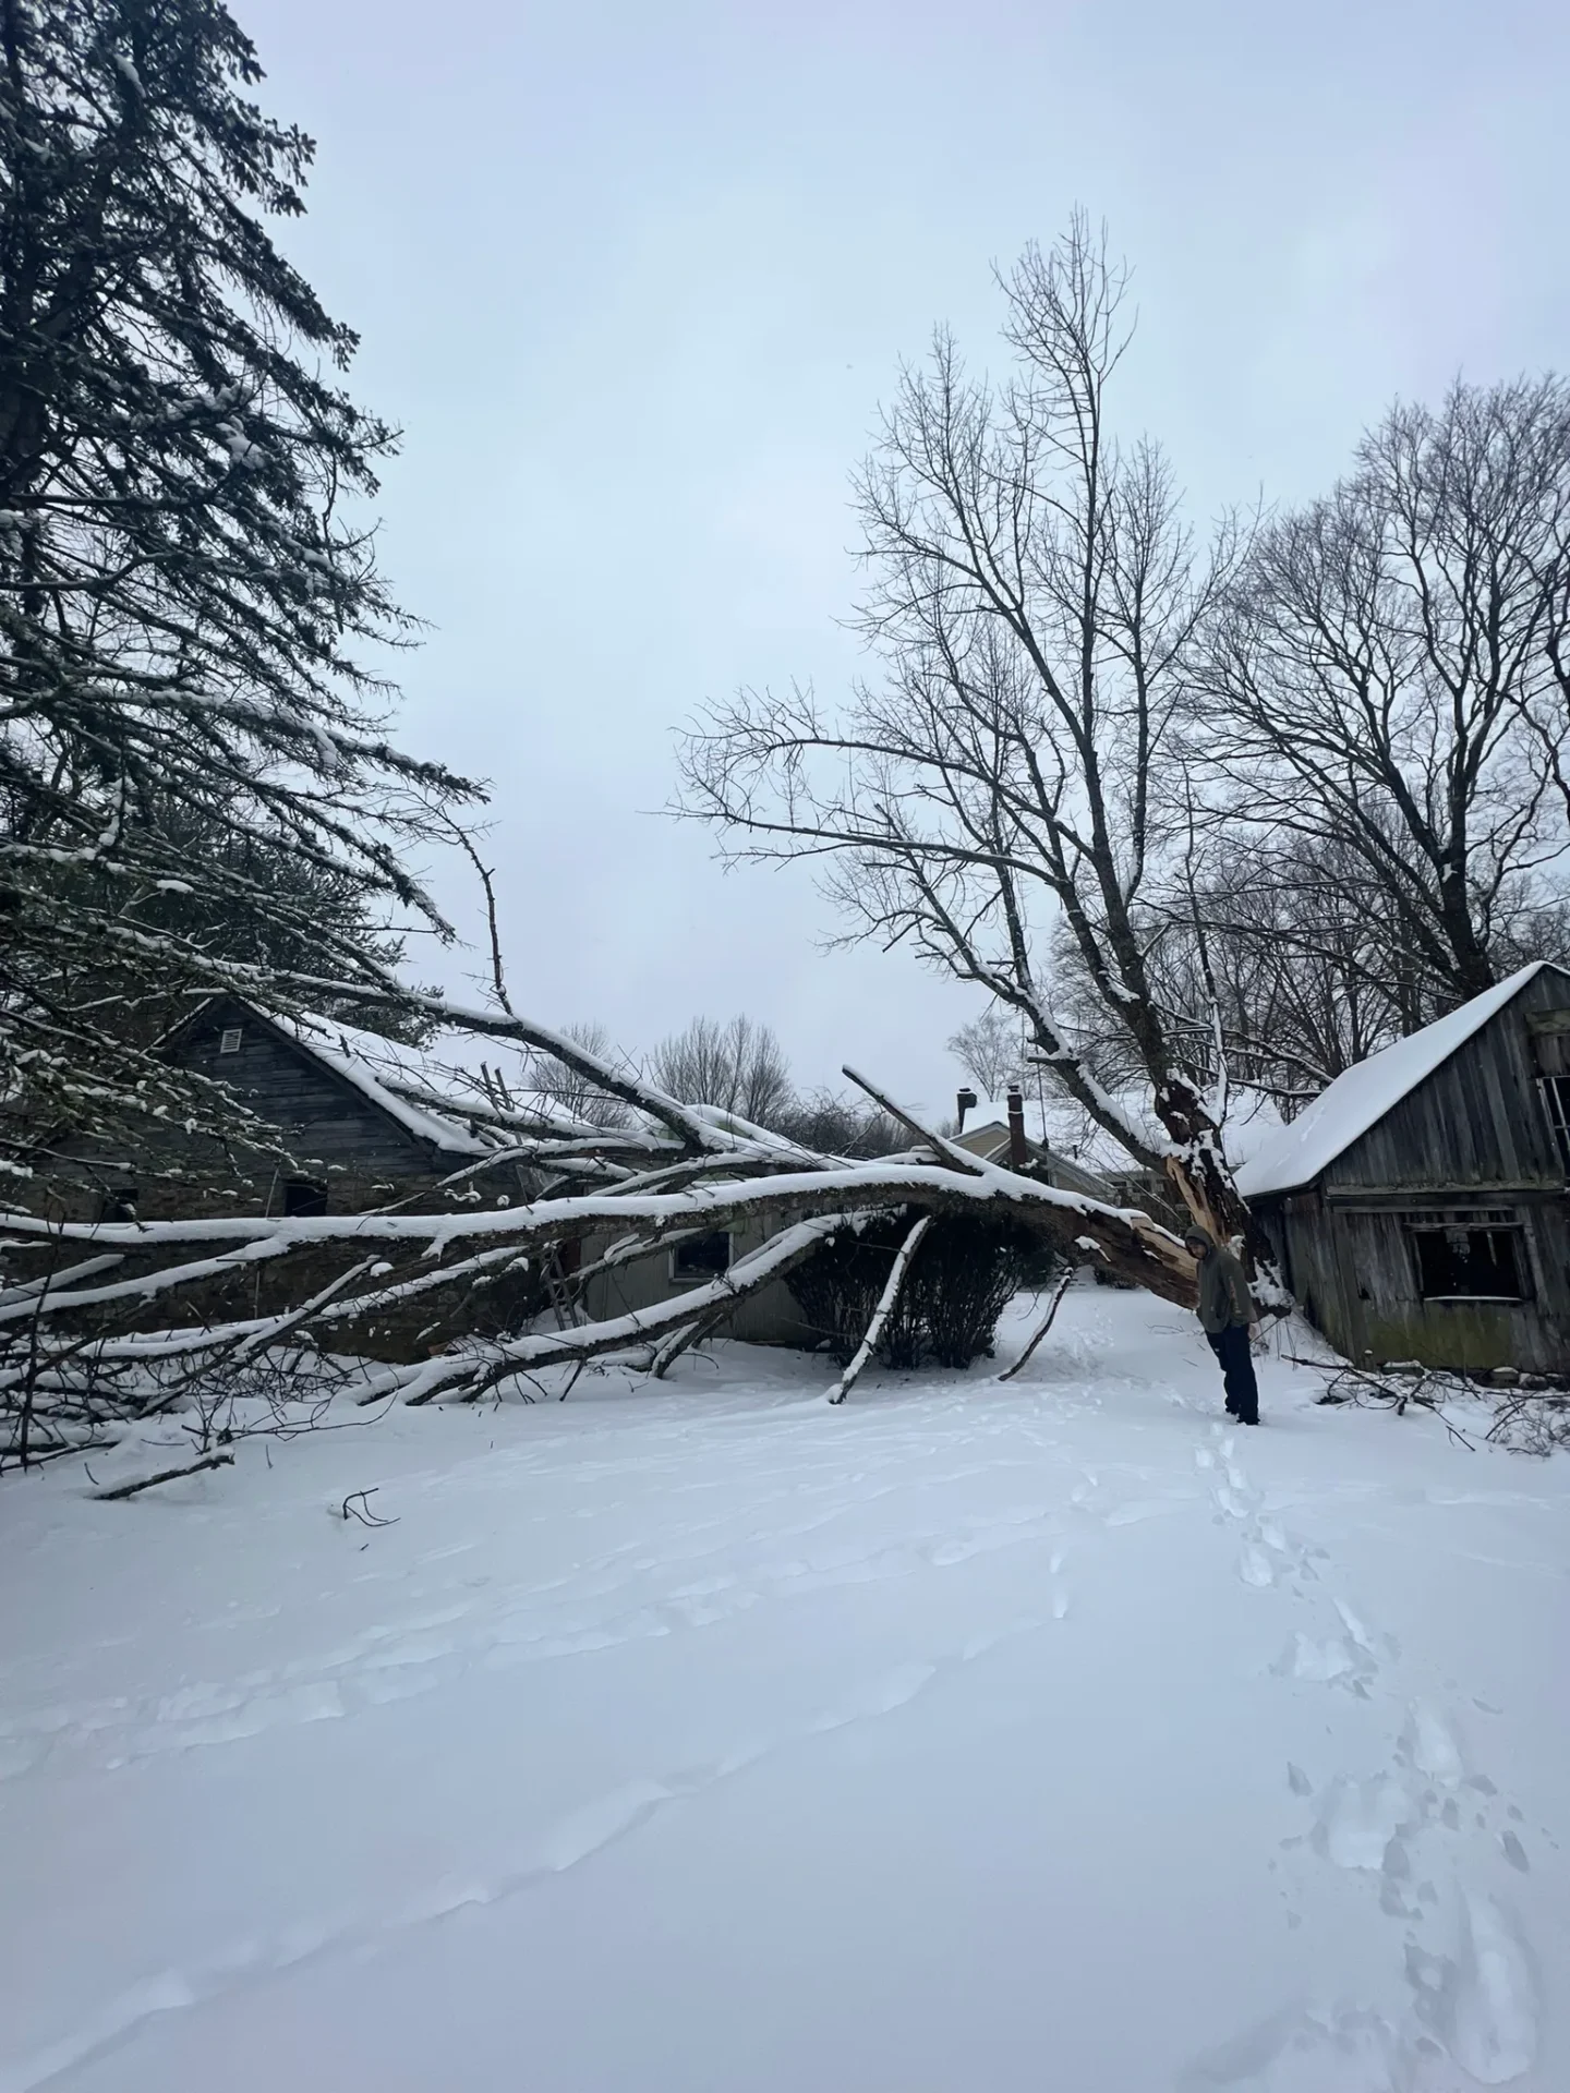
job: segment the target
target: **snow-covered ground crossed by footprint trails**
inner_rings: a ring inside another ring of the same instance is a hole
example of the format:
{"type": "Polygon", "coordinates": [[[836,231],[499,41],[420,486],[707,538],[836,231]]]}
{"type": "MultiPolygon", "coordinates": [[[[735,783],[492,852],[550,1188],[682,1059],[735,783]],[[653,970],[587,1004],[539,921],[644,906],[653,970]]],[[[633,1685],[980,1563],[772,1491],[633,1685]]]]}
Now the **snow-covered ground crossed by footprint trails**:
{"type": "Polygon", "coordinates": [[[1570,1459],[994,1371],[6,1480],[0,2089],[1564,2093],[1570,1459]]]}

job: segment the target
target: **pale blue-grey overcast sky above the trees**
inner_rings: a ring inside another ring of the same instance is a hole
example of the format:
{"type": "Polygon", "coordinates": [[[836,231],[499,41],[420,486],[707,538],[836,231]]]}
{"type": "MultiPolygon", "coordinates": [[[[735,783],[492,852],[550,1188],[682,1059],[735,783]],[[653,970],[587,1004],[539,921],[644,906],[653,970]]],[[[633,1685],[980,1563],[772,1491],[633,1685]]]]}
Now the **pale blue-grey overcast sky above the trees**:
{"type": "Polygon", "coordinates": [[[519,1007],[632,1049],[745,1009],[804,1082],[952,1099],[973,992],[825,954],[806,873],[659,808],[705,697],[856,672],[846,477],[936,320],[999,360],[992,262],[1107,220],[1118,427],[1202,517],[1319,492],[1396,393],[1566,362],[1560,0],[232,4],[318,140],[287,245],[404,429],[402,737],[494,785],[519,1007]]]}

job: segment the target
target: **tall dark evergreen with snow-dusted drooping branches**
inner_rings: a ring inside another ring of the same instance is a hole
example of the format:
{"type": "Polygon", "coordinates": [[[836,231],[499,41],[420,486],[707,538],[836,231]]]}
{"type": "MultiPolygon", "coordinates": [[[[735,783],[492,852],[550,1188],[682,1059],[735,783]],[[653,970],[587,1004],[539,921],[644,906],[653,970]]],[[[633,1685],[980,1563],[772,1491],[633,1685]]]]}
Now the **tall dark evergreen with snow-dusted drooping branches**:
{"type": "Polygon", "coordinates": [[[364,502],[394,431],[264,220],[312,142],[216,0],[0,0],[0,1162],[220,1120],[149,1013],[440,933],[408,854],[475,795],[385,739],[408,638],[364,502]],[[140,1013],[140,1019],[138,1015],[140,1013]],[[184,1093],[184,1095],[182,1095],[184,1093]]]}

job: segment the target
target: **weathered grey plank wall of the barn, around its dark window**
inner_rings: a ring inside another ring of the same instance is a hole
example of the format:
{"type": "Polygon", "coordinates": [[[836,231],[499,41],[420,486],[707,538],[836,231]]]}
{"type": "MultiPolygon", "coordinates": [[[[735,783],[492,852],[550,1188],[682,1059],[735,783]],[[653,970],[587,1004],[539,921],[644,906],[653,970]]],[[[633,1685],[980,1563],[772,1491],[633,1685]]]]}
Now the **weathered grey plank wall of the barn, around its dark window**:
{"type": "Polygon", "coordinates": [[[1570,1199],[1534,1026],[1570,1023],[1570,975],[1526,988],[1302,1193],[1264,1220],[1287,1285],[1348,1358],[1432,1367],[1570,1367],[1570,1199]],[[1413,1216],[1507,1214],[1528,1298],[1423,1300],[1413,1216]]]}

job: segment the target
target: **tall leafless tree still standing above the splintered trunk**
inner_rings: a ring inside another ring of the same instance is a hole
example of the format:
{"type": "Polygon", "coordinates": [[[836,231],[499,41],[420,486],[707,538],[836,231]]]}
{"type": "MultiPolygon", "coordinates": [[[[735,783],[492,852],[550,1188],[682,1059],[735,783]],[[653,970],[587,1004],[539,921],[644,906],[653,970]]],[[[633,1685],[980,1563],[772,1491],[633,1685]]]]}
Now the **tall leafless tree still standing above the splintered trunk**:
{"type": "Polygon", "coordinates": [[[804,693],[712,707],[685,743],[685,808],[733,858],[827,858],[850,936],[986,988],[1097,1124],[1262,1256],[1141,923],[1172,843],[1185,655],[1237,538],[1202,550],[1160,450],[1112,435],[1128,329],[1105,237],[1076,216],[1001,287],[1013,375],[969,377],[938,333],[856,479],[883,680],[837,712],[804,693]],[[1059,921],[1153,1128],[1055,1003],[1059,921]]]}

